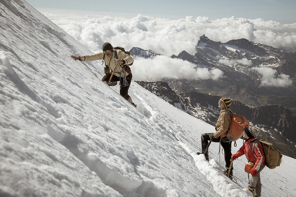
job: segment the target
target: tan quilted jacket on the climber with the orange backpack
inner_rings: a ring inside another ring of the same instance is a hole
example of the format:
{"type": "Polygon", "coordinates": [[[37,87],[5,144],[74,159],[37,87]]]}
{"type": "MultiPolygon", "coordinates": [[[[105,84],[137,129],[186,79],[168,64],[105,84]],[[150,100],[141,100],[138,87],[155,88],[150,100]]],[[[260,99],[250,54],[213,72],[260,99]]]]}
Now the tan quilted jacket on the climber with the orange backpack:
{"type": "Polygon", "coordinates": [[[215,126],[216,132],[214,133],[214,138],[218,138],[219,136],[225,134],[230,127],[231,115],[225,111],[230,112],[230,108],[221,109],[219,118],[215,126]]]}

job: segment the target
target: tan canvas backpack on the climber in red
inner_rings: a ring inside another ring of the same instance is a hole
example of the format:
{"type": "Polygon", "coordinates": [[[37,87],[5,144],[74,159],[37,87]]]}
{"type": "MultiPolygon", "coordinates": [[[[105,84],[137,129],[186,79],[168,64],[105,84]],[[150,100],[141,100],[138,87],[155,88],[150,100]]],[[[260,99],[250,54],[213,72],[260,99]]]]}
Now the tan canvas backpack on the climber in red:
{"type": "MultiPolygon", "coordinates": [[[[260,139],[260,141],[256,140],[255,142],[259,142],[262,145],[264,157],[266,159],[266,166],[269,169],[274,169],[281,164],[281,158],[283,155],[273,144],[266,142],[263,139],[260,139]]],[[[253,142],[253,149],[255,147],[255,142],[253,142]]]]}

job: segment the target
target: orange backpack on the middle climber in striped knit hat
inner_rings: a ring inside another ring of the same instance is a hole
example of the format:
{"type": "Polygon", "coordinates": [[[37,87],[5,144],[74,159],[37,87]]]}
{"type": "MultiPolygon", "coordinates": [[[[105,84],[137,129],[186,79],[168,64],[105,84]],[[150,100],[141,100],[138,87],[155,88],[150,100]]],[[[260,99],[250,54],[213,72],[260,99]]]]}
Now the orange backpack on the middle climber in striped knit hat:
{"type": "Polygon", "coordinates": [[[249,126],[249,121],[243,115],[225,112],[231,116],[230,127],[226,136],[230,141],[236,141],[243,136],[244,128],[249,126]]]}

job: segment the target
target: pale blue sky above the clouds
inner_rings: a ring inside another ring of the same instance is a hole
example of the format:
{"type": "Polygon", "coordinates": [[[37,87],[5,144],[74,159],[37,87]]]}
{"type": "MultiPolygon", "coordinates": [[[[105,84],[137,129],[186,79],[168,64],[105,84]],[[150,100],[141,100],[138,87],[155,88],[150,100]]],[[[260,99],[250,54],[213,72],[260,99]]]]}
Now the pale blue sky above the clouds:
{"type": "Polygon", "coordinates": [[[138,14],[168,19],[186,16],[273,20],[296,23],[296,0],[171,0],[171,1],[98,1],[98,0],[26,0],[35,8],[89,10],[108,15],[135,17],[138,14]],[[169,3],[168,3],[169,2],[169,3]]]}

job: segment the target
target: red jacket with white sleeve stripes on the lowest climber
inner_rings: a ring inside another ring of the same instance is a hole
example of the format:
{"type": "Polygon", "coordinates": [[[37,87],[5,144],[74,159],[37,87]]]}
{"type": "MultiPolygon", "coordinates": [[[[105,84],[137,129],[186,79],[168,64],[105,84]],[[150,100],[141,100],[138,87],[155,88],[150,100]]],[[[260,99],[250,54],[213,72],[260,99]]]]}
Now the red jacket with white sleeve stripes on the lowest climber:
{"type": "Polygon", "coordinates": [[[253,168],[257,171],[260,169],[262,164],[266,162],[262,145],[255,137],[247,139],[237,153],[234,154],[234,158],[238,158],[244,154],[246,155],[248,161],[254,163],[253,168]]]}

